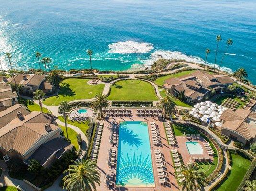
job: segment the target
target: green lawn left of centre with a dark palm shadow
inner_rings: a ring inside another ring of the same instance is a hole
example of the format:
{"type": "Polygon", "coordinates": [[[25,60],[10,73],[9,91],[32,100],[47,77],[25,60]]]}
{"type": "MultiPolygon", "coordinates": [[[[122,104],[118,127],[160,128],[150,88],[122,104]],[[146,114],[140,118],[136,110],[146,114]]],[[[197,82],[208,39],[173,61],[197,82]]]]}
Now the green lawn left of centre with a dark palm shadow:
{"type": "Polygon", "coordinates": [[[91,99],[103,91],[104,84],[89,85],[90,79],[69,78],[63,80],[58,96],[45,99],[44,104],[48,106],[58,106],[62,100],[73,101],[78,99],[91,99]]]}

